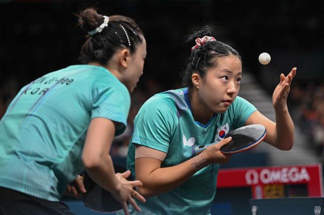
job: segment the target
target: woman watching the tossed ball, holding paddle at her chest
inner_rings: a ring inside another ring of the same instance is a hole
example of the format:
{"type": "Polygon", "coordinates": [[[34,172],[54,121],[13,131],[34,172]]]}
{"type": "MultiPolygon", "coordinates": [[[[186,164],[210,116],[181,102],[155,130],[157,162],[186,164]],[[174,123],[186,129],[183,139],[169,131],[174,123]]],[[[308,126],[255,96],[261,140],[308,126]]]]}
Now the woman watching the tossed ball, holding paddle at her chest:
{"type": "MultiPolygon", "coordinates": [[[[296,74],[281,74],[273,92],[276,122],[237,96],[242,78],[241,58],[231,46],[211,37],[212,28],[189,37],[183,89],[169,90],[148,99],[134,121],[127,157],[128,169],[143,183],[146,196],[142,214],[210,214],[216,193],[219,164],[230,155],[220,148],[230,141],[225,134],[236,128],[262,124],[264,141],[280,150],[294,144],[294,124],[287,108],[290,84],[296,74]],[[218,141],[195,156],[194,148],[218,141]]],[[[137,212],[131,208],[131,213],[137,212]]]]}

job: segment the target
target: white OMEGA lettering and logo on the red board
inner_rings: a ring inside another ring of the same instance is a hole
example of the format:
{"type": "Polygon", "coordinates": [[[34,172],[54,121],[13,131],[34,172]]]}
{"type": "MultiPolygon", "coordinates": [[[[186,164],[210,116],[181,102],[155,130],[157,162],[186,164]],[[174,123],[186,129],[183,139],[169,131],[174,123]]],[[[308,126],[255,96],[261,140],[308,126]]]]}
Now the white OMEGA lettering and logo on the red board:
{"type": "Polygon", "coordinates": [[[262,169],[260,172],[256,170],[248,170],[245,174],[246,182],[248,185],[252,184],[271,184],[271,183],[289,183],[289,182],[302,182],[310,180],[306,168],[298,169],[281,168],[276,170],[262,169]]]}

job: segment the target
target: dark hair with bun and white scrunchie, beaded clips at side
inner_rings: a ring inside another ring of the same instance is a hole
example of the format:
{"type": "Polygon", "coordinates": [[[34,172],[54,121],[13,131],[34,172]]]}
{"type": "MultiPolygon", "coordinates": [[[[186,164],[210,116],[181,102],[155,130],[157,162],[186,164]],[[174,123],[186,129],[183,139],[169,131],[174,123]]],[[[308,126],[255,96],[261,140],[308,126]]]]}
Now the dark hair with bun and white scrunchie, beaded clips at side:
{"type": "MultiPolygon", "coordinates": [[[[87,34],[104,22],[103,15],[98,14],[94,8],[88,8],[77,16],[78,26],[87,34]]],[[[119,15],[110,16],[107,27],[101,32],[86,36],[87,40],[82,46],[79,61],[83,64],[97,62],[106,65],[119,48],[129,48],[130,52],[134,53],[137,45],[143,42],[141,36],[143,32],[133,19],[119,15]]]]}

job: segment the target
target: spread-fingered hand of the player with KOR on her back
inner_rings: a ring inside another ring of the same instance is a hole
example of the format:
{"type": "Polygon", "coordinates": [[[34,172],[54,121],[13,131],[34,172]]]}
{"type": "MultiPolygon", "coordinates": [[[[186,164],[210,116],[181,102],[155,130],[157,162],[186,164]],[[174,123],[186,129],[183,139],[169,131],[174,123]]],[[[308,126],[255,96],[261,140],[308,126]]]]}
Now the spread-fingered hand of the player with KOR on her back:
{"type": "Polygon", "coordinates": [[[131,175],[131,171],[126,171],[124,173],[116,173],[116,176],[119,180],[120,186],[117,190],[111,192],[111,194],[123,205],[125,214],[129,214],[127,202],[129,202],[137,211],[141,209],[137,205],[136,201],[133,198],[145,202],[145,198],[139,194],[134,187],[143,186],[140,181],[128,181],[127,178],[131,175]]]}

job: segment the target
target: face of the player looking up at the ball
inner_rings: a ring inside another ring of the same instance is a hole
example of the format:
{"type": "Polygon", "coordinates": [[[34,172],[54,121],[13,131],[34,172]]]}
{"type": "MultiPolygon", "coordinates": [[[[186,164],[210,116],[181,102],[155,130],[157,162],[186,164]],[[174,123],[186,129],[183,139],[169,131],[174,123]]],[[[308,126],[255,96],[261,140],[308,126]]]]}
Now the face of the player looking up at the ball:
{"type": "Polygon", "coordinates": [[[229,55],[219,58],[217,66],[206,71],[198,90],[199,97],[214,113],[224,113],[236,98],[242,76],[238,57],[229,55]]]}

